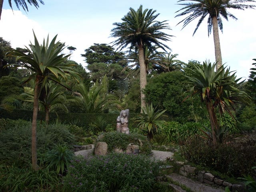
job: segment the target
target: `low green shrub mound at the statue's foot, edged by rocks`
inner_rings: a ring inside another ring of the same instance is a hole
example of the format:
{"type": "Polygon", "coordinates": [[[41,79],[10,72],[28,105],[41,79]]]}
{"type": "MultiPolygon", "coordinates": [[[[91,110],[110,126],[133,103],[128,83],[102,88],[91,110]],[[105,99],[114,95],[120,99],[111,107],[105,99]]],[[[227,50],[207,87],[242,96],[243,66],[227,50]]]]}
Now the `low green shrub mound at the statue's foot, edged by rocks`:
{"type": "Polygon", "coordinates": [[[140,142],[143,143],[140,146],[141,153],[150,154],[151,146],[146,136],[140,134],[123,134],[120,132],[106,132],[100,140],[100,142],[106,142],[108,144],[108,152],[112,152],[115,148],[126,150],[128,144],[134,143],[140,146],[140,142]]]}

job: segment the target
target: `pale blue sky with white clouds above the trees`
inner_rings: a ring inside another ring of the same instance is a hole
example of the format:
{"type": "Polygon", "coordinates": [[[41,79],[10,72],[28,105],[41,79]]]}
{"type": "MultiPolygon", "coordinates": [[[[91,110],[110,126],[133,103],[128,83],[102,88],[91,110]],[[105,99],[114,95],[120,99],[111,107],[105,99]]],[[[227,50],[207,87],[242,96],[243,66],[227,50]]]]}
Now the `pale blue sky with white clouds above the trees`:
{"type": "MultiPolygon", "coordinates": [[[[153,9],[160,15],[156,20],[167,20],[166,23],[172,30],[167,34],[174,37],[170,42],[165,42],[172,54],[178,54],[178,60],[188,62],[205,60],[215,62],[213,34],[208,37],[207,20],[204,20],[196,34],[192,36],[198,20],[195,20],[182,29],[178,24],[184,17],[175,18],[176,11],[182,6],[176,0],[44,0],[44,5],[39,3],[39,8],[28,5],[28,12],[22,8],[18,10],[13,3],[13,11],[8,1],[4,0],[0,20],[0,37],[10,41],[12,48],[25,48],[33,43],[34,30],[38,40],[49,35],[50,40],[56,35],[57,40],[65,42],[66,46],[73,46],[76,50],[72,53],[71,60],[86,66],[84,50],[94,43],[110,44],[114,22],[121,22],[121,18],[129,12],[129,8],[137,10],[140,5],[143,9],[153,9]],[[181,30],[182,29],[182,30],[181,30]]],[[[256,10],[229,10],[238,20],[222,19],[223,33],[220,33],[220,46],[222,62],[230,70],[236,71],[238,78],[248,78],[252,59],[256,58],[256,10]]],[[[111,44],[110,44],[111,45],[111,44]]],[[[64,53],[69,54],[65,49],[64,53]]]]}

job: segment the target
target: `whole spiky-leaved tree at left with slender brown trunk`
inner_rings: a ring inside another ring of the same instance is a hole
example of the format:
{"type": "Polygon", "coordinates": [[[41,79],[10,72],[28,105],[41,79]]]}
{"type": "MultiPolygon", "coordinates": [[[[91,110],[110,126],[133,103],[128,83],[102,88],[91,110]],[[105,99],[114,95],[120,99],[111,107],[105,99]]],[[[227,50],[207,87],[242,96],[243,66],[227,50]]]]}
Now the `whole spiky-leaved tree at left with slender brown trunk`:
{"type": "MultiPolygon", "coordinates": [[[[33,31],[34,33],[34,31],[33,31]]],[[[30,69],[33,73],[28,77],[26,82],[30,80],[35,81],[34,86],[34,106],[32,117],[32,168],[38,170],[37,154],[36,154],[36,121],[38,114],[38,100],[40,93],[43,89],[48,90],[48,81],[54,81],[60,83],[59,76],[66,79],[69,75],[70,65],[62,63],[68,58],[61,54],[64,49],[64,44],[61,42],[55,42],[57,35],[52,39],[49,44],[49,36],[47,40],[43,41],[43,44],[39,44],[34,34],[34,44],[30,42],[30,46],[26,47],[29,52],[28,55],[20,52],[19,50],[10,49],[9,56],[16,57],[19,61],[17,64],[13,64],[14,67],[23,67],[30,69]]]]}

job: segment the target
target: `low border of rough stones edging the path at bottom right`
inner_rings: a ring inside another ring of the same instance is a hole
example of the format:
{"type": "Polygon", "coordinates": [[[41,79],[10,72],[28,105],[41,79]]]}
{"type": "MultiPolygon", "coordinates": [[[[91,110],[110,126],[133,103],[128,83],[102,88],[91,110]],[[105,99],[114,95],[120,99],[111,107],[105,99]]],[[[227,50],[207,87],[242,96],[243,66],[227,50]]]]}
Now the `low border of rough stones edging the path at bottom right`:
{"type": "Polygon", "coordinates": [[[192,167],[190,165],[182,166],[180,168],[180,174],[183,176],[189,176],[191,178],[195,178],[199,182],[208,184],[210,186],[221,187],[223,189],[225,189],[225,187],[228,186],[228,188],[233,192],[235,191],[244,192],[245,190],[244,184],[232,184],[232,183],[226,182],[214,176],[210,172],[206,172],[204,170],[198,171],[196,167],[192,167]]]}

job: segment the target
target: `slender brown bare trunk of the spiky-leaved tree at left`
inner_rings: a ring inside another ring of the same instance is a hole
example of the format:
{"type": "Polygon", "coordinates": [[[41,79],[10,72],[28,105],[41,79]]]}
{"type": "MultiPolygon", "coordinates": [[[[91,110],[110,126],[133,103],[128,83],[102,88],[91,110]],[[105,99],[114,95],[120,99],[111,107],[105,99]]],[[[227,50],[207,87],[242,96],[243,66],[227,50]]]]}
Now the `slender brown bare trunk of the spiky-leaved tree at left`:
{"type": "Polygon", "coordinates": [[[31,140],[31,154],[32,154],[32,168],[38,170],[37,154],[36,154],[36,122],[38,114],[38,96],[39,96],[39,80],[36,77],[36,84],[34,89],[34,109],[32,118],[32,140],[31,140]]]}

